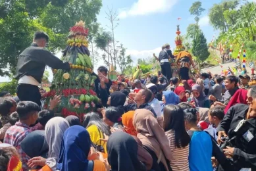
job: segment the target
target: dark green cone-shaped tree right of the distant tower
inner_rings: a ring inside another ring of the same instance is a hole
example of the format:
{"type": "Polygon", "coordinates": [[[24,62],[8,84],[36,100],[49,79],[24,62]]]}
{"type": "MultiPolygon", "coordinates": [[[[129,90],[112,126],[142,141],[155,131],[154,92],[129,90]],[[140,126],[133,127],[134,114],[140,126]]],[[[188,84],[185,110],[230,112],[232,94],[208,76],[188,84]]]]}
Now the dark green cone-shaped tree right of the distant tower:
{"type": "Polygon", "coordinates": [[[197,33],[193,39],[192,53],[199,61],[205,61],[209,57],[210,53],[208,51],[207,40],[203,32],[197,33]]]}

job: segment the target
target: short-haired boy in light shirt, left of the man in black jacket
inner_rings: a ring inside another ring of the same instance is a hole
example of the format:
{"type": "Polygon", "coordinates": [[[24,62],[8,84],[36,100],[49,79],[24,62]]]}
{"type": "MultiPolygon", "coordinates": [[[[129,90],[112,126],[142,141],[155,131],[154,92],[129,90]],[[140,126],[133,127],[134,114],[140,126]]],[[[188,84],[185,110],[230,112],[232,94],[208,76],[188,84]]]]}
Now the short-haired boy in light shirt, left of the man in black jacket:
{"type": "Polygon", "coordinates": [[[218,127],[218,124],[220,124],[223,118],[224,107],[222,106],[213,107],[208,112],[208,120],[210,122],[210,125],[207,129],[205,129],[205,131],[208,132],[216,140],[218,138],[218,136],[216,135],[216,128],[218,127]]]}

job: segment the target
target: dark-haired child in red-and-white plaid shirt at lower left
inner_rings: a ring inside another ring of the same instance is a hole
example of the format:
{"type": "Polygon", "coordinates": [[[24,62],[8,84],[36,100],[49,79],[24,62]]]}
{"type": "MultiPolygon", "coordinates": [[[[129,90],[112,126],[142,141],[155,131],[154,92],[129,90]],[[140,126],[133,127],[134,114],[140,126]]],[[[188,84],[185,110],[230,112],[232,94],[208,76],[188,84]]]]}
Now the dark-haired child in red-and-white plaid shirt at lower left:
{"type": "Polygon", "coordinates": [[[16,147],[20,160],[22,161],[23,170],[29,170],[26,163],[30,157],[28,157],[26,153],[22,151],[20,143],[26,137],[26,135],[32,132],[29,126],[35,124],[36,120],[38,119],[39,110],[39,106],[34,102],[22,101],[18,103],[17,112],[19,121],[16,122],[14,126],[11,126],[5,134],[4,143],[8,143],[16,147]]]}

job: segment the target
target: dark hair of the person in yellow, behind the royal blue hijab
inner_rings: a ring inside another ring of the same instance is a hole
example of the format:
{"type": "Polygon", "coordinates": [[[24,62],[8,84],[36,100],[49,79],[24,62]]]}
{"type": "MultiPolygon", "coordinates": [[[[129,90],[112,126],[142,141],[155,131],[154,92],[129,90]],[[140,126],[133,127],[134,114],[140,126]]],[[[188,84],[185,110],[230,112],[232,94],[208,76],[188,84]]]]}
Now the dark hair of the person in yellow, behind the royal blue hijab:
{"type": "Polygon", "coordinates": [[[91,125],[97,126],[97,128],[99,128],[99,130],[101,130],[103,134],[106,134],[108,136],[111,135],[109,126],[107,126],[107,124],[105,124],[105,122],[103,122],[103,120],[99,118],[99,114],[95,112],[90,112],[84,116],[84,122],[83,122],[84,128],[88,128],[91,125]]]}

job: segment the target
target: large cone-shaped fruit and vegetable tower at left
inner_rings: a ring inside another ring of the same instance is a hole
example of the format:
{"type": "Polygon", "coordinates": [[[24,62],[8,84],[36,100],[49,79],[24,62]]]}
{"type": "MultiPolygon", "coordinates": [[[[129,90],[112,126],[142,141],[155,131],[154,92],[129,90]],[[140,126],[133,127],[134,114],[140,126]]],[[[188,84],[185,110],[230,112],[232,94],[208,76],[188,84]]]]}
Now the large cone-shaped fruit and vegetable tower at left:
{"type": "Polygon", "coordinates": [[[64,116],[76,115],[81,119],[84,114],[94,111],[99,99],[94,91],[93,65],[88,50],[88,28],[83,21],[76,22],[70,28],[63,51],[63,61],[70,62],[70,70],[56,70],[53,68],[53,82],[44,108],[49,107],[49,101],[55,95],[61,95],[61,103],[55,108],[56,113],[64,116]]]}

